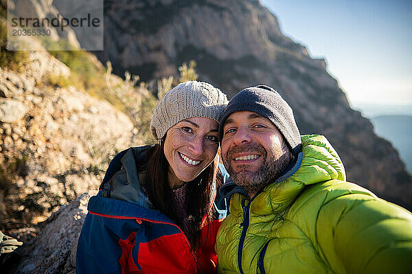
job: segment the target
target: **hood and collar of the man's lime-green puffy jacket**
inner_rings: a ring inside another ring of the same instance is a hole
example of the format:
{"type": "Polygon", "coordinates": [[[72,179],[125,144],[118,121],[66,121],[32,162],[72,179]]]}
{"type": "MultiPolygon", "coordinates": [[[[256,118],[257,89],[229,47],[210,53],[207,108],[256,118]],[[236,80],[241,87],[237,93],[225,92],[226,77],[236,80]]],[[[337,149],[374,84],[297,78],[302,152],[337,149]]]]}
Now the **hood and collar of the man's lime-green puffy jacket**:
{"type": "MultiPolygon", "coordinates": [[[[328,139],[322,135],[302,135],[302,146],[295,165],[275,182],[267,185],[253,199],[251,212],[265,215],[280,212],[286,209],[306,185],[321,183],[331,179],[345,181],[343,163],[330,145],[328,139]]],[[[242,187],[233,186],[234,183],[222,187],[222,192],[233,195],[230,211],[240,206],[245,192],[242,187]],[[243,191],[242,191],[243,190],[243,191]]],[[[241,208],[241,207],[240,207],[241,208]]]]}

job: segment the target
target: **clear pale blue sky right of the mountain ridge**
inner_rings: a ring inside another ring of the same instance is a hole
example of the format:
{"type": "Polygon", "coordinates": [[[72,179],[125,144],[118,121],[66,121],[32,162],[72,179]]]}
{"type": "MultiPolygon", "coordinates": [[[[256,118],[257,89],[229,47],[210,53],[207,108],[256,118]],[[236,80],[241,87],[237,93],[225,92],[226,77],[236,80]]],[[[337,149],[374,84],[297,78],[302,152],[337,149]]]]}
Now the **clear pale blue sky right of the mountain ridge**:
{"type": "Polygon", "coordinates": [[[260,0],[351,104],[412,105],[412,1],[260,0]]]}

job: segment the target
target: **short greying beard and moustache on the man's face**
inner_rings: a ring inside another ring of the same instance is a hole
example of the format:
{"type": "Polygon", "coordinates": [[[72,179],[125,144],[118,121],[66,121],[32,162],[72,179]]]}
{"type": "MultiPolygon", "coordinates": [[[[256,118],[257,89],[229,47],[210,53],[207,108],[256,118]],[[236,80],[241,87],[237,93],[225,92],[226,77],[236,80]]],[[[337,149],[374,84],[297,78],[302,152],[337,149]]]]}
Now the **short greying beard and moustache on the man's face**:
{"type": "Polygon", "coordinates": [[[249,196],[256,194],[262,187],[275,181],[290,163],[290,153],[285,141],[282,147],[274,151],[267,152],[261,144],[248,143],[242,146],[234,146],[229,149],[226,155],[222,155],[223,163],[227,172],[236,185],[240,185],[247,191],[249,196]],[[244,164],[238,167],[237,171],[231,166],[233,155],[239,152],[258,152],[263,157],[263,163],[258,170],[250,171],[249,165],[244,164]]]}

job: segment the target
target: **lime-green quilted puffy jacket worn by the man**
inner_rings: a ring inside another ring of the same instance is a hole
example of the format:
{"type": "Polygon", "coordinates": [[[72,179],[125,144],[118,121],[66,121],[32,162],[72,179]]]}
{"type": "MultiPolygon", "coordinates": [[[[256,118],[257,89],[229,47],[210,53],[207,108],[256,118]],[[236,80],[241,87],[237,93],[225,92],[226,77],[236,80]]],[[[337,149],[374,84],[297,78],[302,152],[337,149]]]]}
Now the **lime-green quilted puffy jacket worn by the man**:
{"type": "Polygon", "coordinates": [[[411,212],[346,182],[325,137],[301,140],[293,174],[231,196],[218,273],[412,273],[411,212]]]}

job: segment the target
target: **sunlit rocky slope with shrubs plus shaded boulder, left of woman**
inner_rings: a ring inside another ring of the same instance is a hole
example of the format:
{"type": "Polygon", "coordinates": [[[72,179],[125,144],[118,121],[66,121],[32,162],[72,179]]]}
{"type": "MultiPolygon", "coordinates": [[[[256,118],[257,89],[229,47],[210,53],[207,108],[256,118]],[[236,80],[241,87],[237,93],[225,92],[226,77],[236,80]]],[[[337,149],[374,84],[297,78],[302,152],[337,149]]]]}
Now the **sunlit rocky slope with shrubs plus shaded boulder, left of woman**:
{"type": "MultiPolygon", "coordinates": [[[[0,67],[0,230],[23,242],[16,273],[74,273],[89,196],[117,152],[150,141],[136,126],[147,129],[156,100],[143,85],[133,87],[135,80],[111,75],[110,66],[93,77],[105,82],[100,97],[108,95],[112,104],[91,96],[90,87],[74,81],[82,80],[79,72],[40,44],[22,55],[5,51],[3,33],[0,18],[0,53],[9,60],[0,67]],[[124,112],[113,96],[129,102],[126,109],[120,103],[124,112]]],[[[102,68],[91,54],[79,62],[102,68]]]]}

